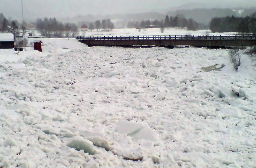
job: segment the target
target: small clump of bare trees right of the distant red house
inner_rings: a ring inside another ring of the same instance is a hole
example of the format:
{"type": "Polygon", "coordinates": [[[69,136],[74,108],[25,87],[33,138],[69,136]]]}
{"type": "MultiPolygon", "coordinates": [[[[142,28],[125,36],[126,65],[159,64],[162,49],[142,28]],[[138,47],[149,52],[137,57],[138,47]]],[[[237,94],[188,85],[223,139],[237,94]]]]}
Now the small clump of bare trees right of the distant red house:
{"type": "Polygon", "coordinates": [[[89,30],[97,29],[98,31],[99,29],[112,30],[114,28],[115,26],[110,19],[102,19],[102,21],[96,20],[95,23],[90,23],[88,29],[89,30]]]}

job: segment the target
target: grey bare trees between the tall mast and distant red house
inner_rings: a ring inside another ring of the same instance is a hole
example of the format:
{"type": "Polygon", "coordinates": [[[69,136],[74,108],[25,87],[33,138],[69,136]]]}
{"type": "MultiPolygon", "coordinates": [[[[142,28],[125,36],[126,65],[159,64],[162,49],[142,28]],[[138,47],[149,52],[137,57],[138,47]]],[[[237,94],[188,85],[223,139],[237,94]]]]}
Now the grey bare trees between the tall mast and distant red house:
{"type": "Polygon", "coordinates": [[[76,24],[57,21],[56,18],[38,18],[35,23],[36,29],[45,37],[74,37],[78,32],[76,24]]]}

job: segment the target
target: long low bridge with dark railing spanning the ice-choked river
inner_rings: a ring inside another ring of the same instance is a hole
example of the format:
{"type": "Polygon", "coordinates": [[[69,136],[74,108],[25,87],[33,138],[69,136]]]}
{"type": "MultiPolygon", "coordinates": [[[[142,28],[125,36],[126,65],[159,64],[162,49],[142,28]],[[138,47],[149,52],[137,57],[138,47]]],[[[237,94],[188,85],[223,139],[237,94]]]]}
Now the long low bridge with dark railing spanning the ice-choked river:
{"type": "Polygon", "coordinates": [[[231,47],[256,45],[256,34],[159,35],[159,36],[87,36],[77,39],[88,46],[197,46],[231,47]]]}

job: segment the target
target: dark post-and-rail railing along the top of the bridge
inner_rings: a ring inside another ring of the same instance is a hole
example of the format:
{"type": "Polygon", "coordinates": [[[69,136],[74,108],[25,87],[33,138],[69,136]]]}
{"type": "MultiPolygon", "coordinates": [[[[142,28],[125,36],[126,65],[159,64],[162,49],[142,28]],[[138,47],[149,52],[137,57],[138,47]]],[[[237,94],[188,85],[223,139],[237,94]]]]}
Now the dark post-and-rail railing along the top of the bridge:
{"type": "Polygon", "coordinates": [[[159,35],[159,36],[78,36],[79,40],[228,40],[253,39],[256,34],[226,34],[226,35],[159,35]]]}

